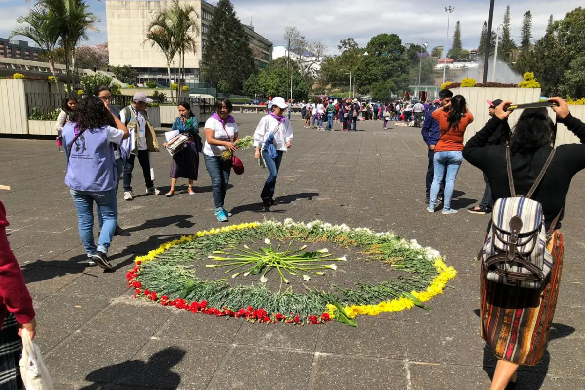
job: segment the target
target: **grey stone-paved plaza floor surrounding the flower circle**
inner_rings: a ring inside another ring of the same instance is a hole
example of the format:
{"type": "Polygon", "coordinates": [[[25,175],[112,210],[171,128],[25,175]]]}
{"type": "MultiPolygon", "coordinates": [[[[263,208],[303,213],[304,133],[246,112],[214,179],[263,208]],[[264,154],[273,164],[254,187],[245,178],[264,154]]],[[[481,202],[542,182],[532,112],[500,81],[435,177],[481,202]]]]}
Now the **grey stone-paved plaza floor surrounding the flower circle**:
{"type": "MultiPolygon", "coordinates": [[[[240,134],[261,116],[235,114],[240,134]]],[[[359,327],[262,325],[194,315],[133,299],[126,271],[136,256],[183,234],[221,226],[211,182],[199,167],[197,195],[186,180],[173,198],[146,196],[139,164],[135,199],[119,198],[115,272],[84,264],[77,214],[63,183],[66,163],[54,141],[0,139],[0,191],[8,234],[37,312],[37,344],[56,389],[488,389],[495,364],[479,325],[479,250],[489,216],[466,211],[483,195],[481,172],[464,163],[456,181],[457,215],[425,211],[426,148],[420,129],[360,122],[359,132],[318,132],[292,121],[276,197],[266,212],[260,190],[267,171],[240,151],[246,172],[232,174],[230,223],[292,218],[393,230],[445,256],[458,275],[443,295],[413,308],[358,317],[359,327]]],[[[339,125],[335,126],[339,129],[339,125]]],[[[162,132],[160,133],[162,143],[162,132]]],[[[154,154],[154,180],[166,193],[171,157],[154,154]]],[[[521,368],[517,389],[585,386],[585,174],[566,202],[565,267],[548,353],[521,368]]],[[[97,230],[95,232],[97,234],[97,230]]]]}

